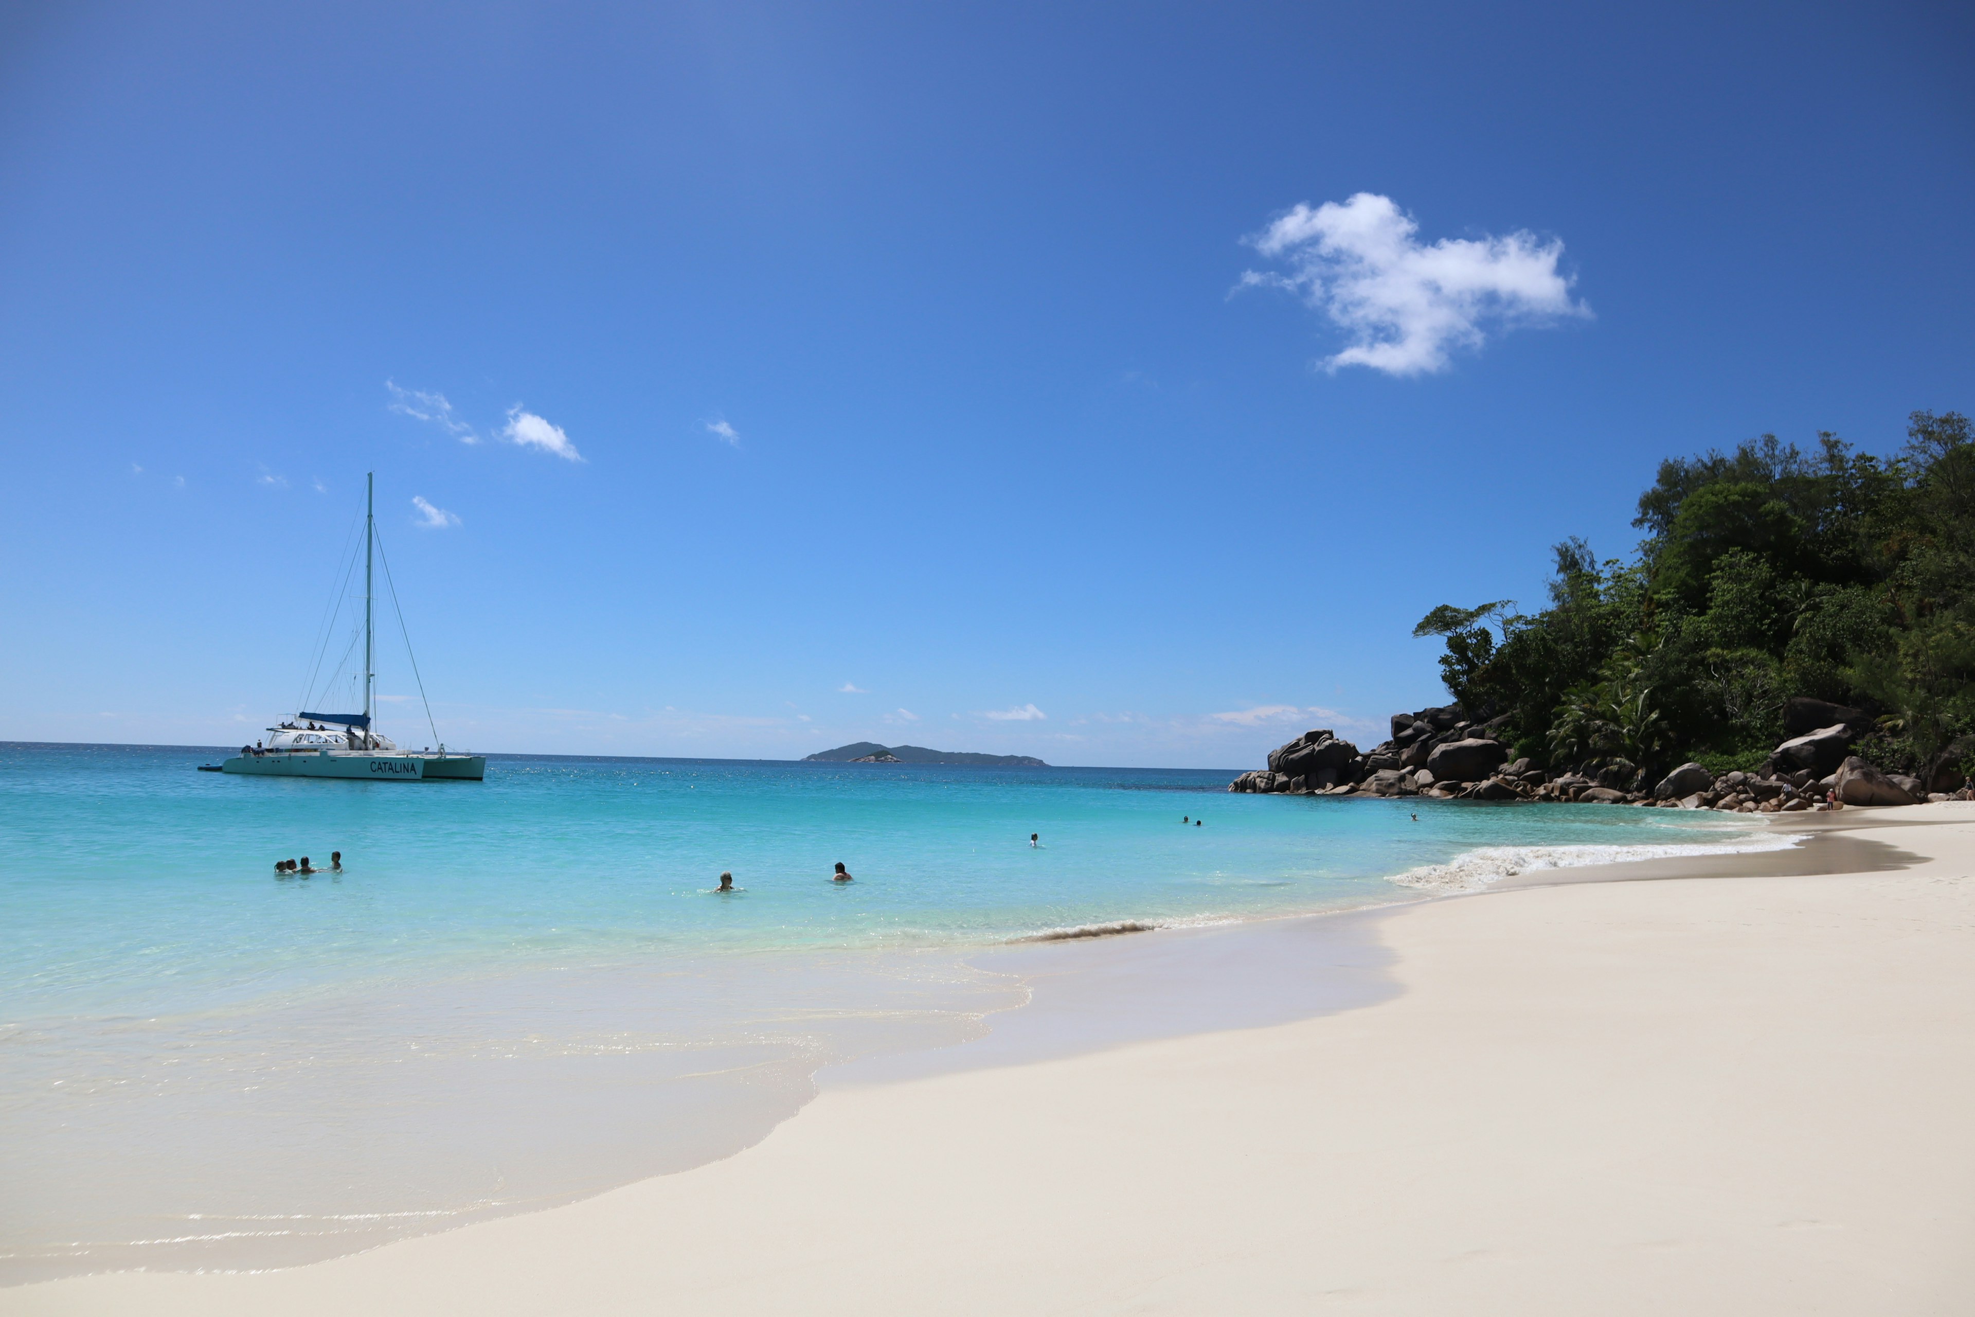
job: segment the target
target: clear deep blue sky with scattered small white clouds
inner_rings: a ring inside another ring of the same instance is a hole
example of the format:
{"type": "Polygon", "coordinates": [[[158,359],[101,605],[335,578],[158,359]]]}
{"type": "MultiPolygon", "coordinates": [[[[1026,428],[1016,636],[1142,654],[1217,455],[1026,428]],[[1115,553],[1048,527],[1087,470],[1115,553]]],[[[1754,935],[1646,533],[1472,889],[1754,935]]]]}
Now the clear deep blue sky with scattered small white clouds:
{"type": "Polygon", "coordinates": [[[452,744],[1246,768],[1661,456],[1975,407],[1953,6],[0,24],[0,738],[292,713],[375,470],[452,744]]]}

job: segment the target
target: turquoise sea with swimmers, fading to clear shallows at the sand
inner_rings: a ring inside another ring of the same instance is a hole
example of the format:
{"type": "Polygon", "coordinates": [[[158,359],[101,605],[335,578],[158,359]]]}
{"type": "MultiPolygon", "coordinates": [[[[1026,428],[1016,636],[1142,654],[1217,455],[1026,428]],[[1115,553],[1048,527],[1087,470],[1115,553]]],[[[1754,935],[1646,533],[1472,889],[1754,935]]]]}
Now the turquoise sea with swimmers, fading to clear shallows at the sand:
{"type": "MultiPolygon", "coordinates": [[[[1191,936],[1076,934],[1785,843],[1669,810],[1230,796],[1236,770],[194,770],[223,754],[0,744],[0,1283],[286,1266],[699,1165],[826,1066],[982,1041],[1039,975],[1191,936]],[[275,873],[330,851],[342,873],[275,873]]],[[[1132,1037],[1211,1027],[1171,954],[1136,956],[1132,1037]]],[[[1246,997],[1321,1009],[1272,964],[1246,997]]]]}

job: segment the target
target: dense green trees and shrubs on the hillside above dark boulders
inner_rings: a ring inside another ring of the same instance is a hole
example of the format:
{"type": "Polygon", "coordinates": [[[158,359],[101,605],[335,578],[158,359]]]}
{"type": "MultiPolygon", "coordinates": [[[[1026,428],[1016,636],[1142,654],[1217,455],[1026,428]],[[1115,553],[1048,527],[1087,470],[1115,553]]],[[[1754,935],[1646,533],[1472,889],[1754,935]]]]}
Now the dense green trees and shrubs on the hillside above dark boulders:
{"type": "MultiPolygon", "coordinates": [[[[1793,695],[1880,717],[1870,752],[1926,772],[1975,733],[1975,436],[1914,413],[1886,462],[1819,434],[1661,462],[1631,561],[1554,547],[1548,606],[1442,604],[1448,691],[1509,715],[1519,754],[1760,766],[1793,695]],[[1963,738],[1963,740],[1957,740],[1963,738]]],[[[1957,748],[1961,746],[1961,748],[1957,748]]]]}

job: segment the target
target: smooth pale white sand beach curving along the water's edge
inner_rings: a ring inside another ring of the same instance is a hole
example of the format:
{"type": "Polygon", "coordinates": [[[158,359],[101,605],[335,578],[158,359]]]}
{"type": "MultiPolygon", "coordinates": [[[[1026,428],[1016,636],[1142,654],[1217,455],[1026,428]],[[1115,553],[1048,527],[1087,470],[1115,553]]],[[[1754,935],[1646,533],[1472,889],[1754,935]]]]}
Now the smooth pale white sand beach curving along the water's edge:
{"type": "Polygon", "coordinates": [[[826,1088],[571,1206],[0,1311],[1975,1311],[1975,806],[1831,823],[1926,859],[1424,902],[1379,1005],[826,1088]]]}

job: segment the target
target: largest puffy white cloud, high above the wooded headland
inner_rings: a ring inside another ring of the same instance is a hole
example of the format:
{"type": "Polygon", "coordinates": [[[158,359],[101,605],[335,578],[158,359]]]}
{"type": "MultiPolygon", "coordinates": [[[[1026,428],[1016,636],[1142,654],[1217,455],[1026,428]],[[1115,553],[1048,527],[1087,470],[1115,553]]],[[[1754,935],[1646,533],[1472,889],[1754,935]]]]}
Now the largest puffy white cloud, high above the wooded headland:
{"type": "Polygon", "coordinates": [[[1535,233],[1418,241],[1420,225],[1390,197],[1361,192],[1311,209],[1298,203],[1246,239],[1288,274],[1246,271],[1240,286],[1290,288],[1351,336],[1325,369],[1369,365],[1386,375],[1446,369],[1450,348],[1479,348],[1483,322],[1533,324],[1590,316],[1556,271],[1564,245],[1535,233]]]}

